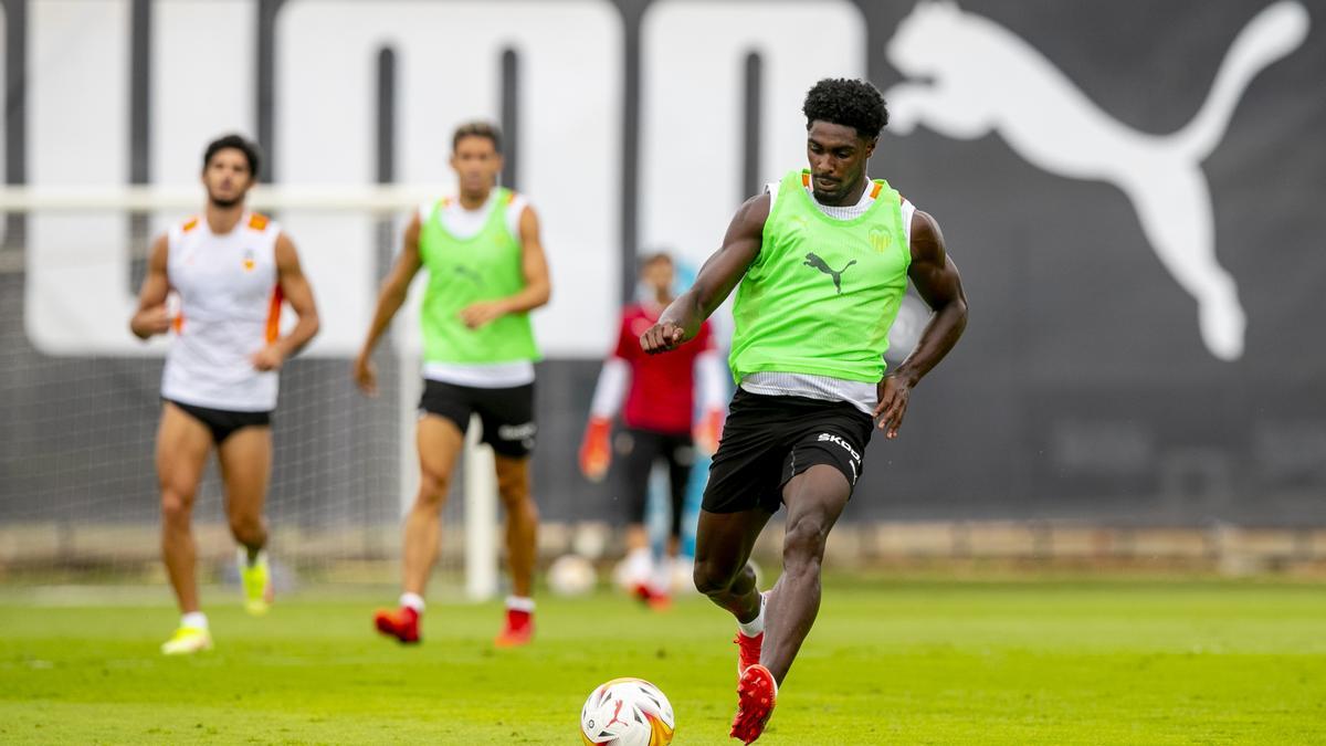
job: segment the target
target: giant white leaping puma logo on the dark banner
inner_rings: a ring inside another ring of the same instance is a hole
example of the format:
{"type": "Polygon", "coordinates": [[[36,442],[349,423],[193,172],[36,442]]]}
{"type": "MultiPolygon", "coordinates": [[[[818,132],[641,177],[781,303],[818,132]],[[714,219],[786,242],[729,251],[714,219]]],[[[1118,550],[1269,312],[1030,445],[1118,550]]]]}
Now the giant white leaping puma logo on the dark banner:
{"type": "Polygon", "coordinates": [[[963,12],[952,0],[922,0],[888,41],[890,62],[919,78],[884,93],[890,129],[907,134],[926,125],[956,139],[997,131],[1041,170],[1119,187],[1160,263],[1197,301],[1207,349],[1236,360],[1244,352],[1246,316],[1233,276],[1216,259],[1201,162],[1220,142],[1252,78],[1297,49],[1307,25],[1307,11],[1297,0],[1264,9],[1235,38],[1196,117],[1176,133],[1155,135],[1094,106],[1006,28],[963,12]]]}

